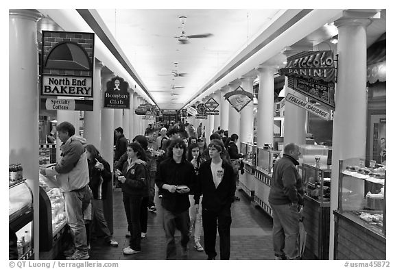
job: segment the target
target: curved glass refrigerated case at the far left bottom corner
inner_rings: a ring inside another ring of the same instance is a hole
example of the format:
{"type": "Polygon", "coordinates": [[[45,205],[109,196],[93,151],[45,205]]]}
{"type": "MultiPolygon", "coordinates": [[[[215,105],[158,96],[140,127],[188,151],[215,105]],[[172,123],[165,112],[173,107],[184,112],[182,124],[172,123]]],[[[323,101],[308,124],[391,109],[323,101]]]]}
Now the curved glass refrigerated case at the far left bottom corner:
{"type": "Polygon", "coordinates": [[[9,183],[9,226],[18,239],[18,259],[34,259],[33,194],[25,179],[9,183]]]}

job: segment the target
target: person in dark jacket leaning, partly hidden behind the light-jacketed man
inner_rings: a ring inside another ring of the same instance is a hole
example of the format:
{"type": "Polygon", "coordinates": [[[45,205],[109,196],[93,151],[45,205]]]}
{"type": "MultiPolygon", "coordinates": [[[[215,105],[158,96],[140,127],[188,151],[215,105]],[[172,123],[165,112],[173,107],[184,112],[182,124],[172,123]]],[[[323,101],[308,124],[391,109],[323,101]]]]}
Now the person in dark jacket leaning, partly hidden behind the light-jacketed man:
{"type": "MultiPolygon", "coordinates": [[[[100,156],[99,151],[93,144],[85,146],[88,158],[89,187],[92,190],[92,229],[94,228],[104,234],[104,242],[110,246],[118,246],[118,242],[112,240],[110,230],[104,218],[103,200],[106,199],[108,182],[111,181],[110,164],[100,156]]],[[[88,232],[88,231],[87,231],[88,232]]]]}

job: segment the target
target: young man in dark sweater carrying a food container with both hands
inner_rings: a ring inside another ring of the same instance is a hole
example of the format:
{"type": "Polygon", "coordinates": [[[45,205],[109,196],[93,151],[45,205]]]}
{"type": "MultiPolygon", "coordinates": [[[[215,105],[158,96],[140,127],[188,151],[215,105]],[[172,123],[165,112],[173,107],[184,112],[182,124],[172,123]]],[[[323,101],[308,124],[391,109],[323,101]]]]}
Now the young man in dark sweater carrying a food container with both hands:
{"type": "Polygon", "coordinates": [[[166,259],[176,259],[176,228],[181,232],[182,256],[188,255],[189,191],[195,188],[195,170],[187,161],[187,146],[180,138],[171,140],[169,157],[158,165],[155,183],[163,190],[163,229],[167,249],[166,259]]]}

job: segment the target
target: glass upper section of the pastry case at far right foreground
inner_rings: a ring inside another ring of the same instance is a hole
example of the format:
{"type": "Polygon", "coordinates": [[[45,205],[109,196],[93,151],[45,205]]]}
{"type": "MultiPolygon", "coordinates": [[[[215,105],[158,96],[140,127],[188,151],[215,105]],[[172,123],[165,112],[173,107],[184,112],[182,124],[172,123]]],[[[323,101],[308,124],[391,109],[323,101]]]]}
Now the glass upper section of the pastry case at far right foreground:
{"type": "Polygon", "coordinates": [[[385,168],[364,167],[365,159],[339,162],[339,212],[363,220],[385,235],[385,168]]]}

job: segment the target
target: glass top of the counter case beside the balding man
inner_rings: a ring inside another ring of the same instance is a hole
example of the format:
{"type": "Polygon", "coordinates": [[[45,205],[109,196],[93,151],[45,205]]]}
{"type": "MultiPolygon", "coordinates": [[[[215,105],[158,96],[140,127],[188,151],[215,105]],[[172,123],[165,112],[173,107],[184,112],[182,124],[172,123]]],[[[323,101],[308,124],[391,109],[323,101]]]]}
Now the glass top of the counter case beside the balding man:
{"type": "Polygon", "coordinates": [[[306,195],[329,206],[331,203],[331,166],[302,164],[301,168],[306,195]]]}

